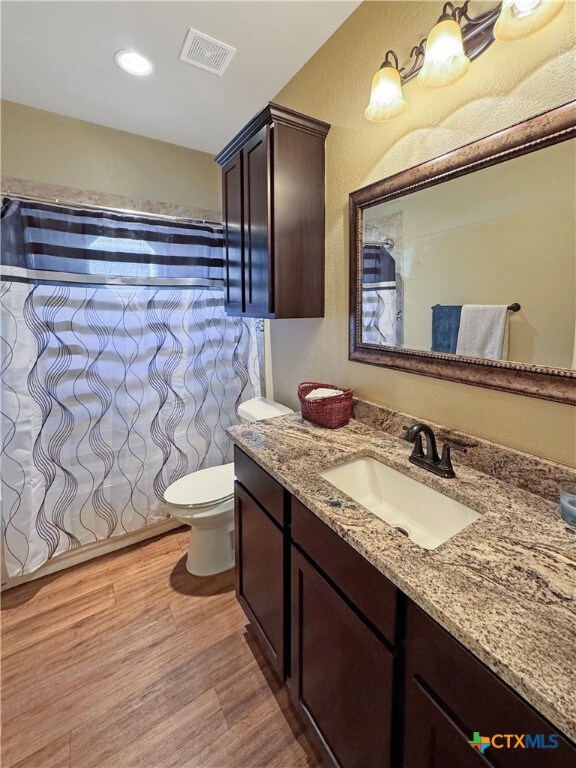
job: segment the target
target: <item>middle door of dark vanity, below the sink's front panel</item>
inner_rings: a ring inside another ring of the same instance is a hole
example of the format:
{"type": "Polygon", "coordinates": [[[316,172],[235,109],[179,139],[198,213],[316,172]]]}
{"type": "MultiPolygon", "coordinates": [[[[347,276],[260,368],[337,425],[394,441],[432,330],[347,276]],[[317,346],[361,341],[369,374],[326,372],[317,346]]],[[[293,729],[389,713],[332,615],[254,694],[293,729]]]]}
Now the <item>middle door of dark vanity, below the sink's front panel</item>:
{"type": "Polygon", "coordinates": [[[390,765],[393,655],[292,547],[295,706],[340,768],[390,765]]]}

